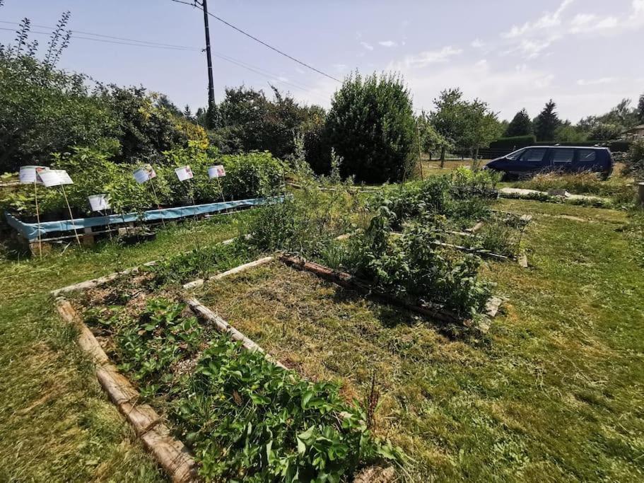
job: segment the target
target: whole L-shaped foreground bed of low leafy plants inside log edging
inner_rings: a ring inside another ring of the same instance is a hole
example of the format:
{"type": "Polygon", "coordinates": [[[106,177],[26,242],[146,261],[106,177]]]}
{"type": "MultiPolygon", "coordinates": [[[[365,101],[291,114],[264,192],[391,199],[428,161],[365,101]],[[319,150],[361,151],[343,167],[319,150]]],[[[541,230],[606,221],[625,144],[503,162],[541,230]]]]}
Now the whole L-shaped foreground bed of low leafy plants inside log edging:
{"type": "Polygon", "coordinates": [[[187,262],[202,260],[201,252],[69,291],[89,338],[132,381],[139,404],[149,402],[168,435],[187,443],[206,479],[349,481],[374,462],[399,460],[396,448],[370,436],[363,409],[344,401],[336,385],[299,378],[252,342],[197,321],[180,284],[250,257],[240,244],[217,246],[198,269],[187,262]],[[179,265],[188,267],[177,273],[179,265]]]}

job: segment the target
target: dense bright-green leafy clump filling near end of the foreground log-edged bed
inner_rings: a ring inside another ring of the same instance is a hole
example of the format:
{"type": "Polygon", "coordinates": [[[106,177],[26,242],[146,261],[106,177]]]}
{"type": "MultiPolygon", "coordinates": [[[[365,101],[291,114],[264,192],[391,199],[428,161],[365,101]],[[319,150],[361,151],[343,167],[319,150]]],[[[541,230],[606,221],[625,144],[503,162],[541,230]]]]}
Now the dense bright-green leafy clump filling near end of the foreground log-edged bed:
{"type": "Polygon", "coordinates": [[[338,390],[220,338],[201,355],[172,416],[208,479],[339,482],[366,462],[400,458],[338,390]]]}

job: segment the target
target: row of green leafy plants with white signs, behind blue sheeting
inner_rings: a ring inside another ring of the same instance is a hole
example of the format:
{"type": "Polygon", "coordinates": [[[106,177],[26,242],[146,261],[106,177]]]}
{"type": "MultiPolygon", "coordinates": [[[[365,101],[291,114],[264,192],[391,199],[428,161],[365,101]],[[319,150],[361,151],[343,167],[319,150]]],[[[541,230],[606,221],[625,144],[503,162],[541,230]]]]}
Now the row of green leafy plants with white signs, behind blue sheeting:
{"type": "MultiPolygon", "coordinates": [[[[140,164],[115,163],[114,146],[109,149],[73,148],[71,152],[54,156],[52,168],[67,170],[74,185],[66,187],[74,214],[90,214],[87,197],[91,194],[107,194],[115,213],[145,211],[161,206],[182,206],[194,203],[218,202],[223,199],[248,199],[269,197],[281,192],[283,186],[283,163],[270,153],[248,153],[236,156],[213,156],[201,149],[197,141],[187,148],[175,148],[163,153],[164,165],[154,165],[156,178],[154,190],[149,183],[140,185],[132,173],[140,164]],[[208,168],[223,164],[226,176],[219,180],[208,177],[208,168]],[[175,174],[177,166],[189,165],[194,178],[180,182],[175,174]]],[[[38,190],[40,211],[56,219],[66,215],[63,194],[57,188],[38,190]]],[[[7,192],[0,205],[21,216],[35,215],[33,187],[23,185],[18,190],[7,192]]]]}

